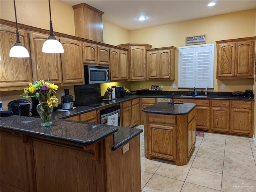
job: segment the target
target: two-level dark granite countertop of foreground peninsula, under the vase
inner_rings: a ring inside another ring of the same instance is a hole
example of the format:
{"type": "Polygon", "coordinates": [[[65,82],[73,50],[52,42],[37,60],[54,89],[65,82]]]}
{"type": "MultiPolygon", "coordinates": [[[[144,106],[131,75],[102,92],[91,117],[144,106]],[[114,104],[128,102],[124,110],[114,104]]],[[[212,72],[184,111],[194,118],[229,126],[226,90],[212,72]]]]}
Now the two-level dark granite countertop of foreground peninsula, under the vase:
{"type": "Polygon", "coordinates": [[[54,119],[50,127],[41,127],[41,119],[11,115],[1,117],[1,129],[77,144],[91,145],[114,134],[113,150],[142,133],[142,129],[54,119]]]}

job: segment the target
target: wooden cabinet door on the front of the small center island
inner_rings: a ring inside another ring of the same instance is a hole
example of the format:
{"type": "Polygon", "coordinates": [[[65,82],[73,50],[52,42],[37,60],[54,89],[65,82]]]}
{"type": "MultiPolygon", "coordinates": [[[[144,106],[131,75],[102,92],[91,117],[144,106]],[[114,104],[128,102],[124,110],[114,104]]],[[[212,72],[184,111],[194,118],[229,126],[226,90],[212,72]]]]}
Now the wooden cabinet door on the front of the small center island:
{"type": "Polygon", "coordinates": [[[176,127],[149,124],[149,153],[151,156],[176,160],[176,127]]]}

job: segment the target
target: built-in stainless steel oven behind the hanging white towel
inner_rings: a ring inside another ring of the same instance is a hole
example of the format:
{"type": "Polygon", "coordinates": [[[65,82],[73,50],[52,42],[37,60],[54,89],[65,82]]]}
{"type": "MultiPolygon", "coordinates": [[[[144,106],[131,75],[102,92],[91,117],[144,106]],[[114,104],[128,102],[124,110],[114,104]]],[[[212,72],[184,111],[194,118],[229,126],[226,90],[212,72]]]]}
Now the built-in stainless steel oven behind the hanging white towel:
{"type": "Polygon", "coordinates": [[[120,105],[114,105],[100,110],[100,123],[108,125],[108,117],[118,114],[118,126],[121,126],[120,105]]]}

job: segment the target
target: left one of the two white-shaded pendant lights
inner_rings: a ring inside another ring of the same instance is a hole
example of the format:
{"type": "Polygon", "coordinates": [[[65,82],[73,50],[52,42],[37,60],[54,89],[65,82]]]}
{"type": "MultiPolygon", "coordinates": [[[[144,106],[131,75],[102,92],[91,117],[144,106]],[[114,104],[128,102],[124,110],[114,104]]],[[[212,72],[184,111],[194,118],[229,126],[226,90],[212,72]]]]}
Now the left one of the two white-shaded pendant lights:
{"type": "Polygon", "coordinates": [[[17,24],[17,15],[16,15],[16,6],[15,6],[15,0],[14,2],[14,13],[15,13],[15,20],[16,20],[16,43],[11,48],[9,56],[10,57],[29,57],[28,50],[22,46],[20,42],[20,36],[18,31],[18,24],[17,24]]]}

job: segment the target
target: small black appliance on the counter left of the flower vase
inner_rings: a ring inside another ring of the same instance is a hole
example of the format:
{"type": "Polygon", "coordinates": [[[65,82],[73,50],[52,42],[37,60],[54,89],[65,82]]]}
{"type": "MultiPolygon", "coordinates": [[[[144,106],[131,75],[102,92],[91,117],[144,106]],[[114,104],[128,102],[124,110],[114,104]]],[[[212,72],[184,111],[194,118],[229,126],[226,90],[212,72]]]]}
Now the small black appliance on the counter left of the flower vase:
{"type": "Polygon", "coordinates": [[[26,99],[17,99],[8,103],[8,110],[12,111],[13,115],[30,116],[31,102],[26,99]]]}

